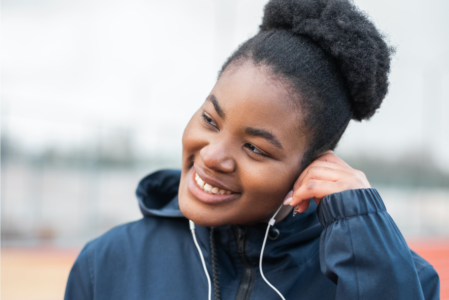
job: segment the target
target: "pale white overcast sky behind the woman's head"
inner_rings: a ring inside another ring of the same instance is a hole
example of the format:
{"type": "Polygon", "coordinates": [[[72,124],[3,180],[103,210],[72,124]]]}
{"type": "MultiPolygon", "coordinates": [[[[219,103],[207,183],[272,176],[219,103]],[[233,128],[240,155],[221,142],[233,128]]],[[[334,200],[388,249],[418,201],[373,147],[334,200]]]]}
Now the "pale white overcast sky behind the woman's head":
{"type": "MultiPolygon", "coordinates": [[[[265,1],[2,1],[2,135],[30,152],[129,137],[138,155],[181,155],[181,135],[265,1]]],[[[338,151],[425,151],[449,171],[449,2],[359,0],[397,46],[391,88],[338,151]]]]}

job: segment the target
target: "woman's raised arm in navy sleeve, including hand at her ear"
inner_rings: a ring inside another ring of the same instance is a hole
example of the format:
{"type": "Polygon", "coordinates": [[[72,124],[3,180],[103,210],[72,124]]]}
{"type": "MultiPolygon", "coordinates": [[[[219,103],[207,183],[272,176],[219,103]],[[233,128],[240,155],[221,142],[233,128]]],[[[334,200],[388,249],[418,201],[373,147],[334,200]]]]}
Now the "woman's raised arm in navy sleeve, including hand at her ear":
{"type": "Polygon", "coordinates": [[[300,175],[290,205],[303,212],[309,198],[319,204],[321,271],[336,299],[439,298],[435,270],[410,252],[362,172],[328,151],[300,175]]]}

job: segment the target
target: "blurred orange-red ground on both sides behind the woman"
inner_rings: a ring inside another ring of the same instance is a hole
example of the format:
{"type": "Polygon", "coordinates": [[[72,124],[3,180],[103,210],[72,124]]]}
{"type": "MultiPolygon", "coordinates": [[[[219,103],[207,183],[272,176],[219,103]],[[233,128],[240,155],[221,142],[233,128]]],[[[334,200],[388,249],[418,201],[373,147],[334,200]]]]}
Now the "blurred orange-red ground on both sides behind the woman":
{"type": "MultiPolygon", "coordinates": [[[[449,300],[449,239],[407,240],[440,277],[441,300],[449,300]]],[[[2,247],[2,300],[62,299],[68,272],[79,249],[2,247]]]]}

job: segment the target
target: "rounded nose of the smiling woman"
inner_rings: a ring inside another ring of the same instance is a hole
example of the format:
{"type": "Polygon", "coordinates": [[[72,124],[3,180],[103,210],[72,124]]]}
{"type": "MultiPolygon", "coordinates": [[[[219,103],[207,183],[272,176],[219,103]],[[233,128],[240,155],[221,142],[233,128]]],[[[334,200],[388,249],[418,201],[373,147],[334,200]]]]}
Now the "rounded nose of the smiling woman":
{"type": "Polygon", "coordinates": [[[231,173],[235,170],[235,160],[229,151],[229,147],[226,147],[225,141],[211,142],[203,147],[199,154],[206,168],[225,173],[231,173]]]}

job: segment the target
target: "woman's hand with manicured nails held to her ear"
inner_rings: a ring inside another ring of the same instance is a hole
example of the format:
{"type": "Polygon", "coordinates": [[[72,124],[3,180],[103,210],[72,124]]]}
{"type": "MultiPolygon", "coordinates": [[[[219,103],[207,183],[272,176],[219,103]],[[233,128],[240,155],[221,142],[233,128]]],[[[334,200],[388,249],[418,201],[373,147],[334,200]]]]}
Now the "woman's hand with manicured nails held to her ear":
{"type": "Polygon", "coordinates": [[[287,194],[284,204],[295,206],[296,212],[303,213],[308,208],[311,198],[320,204],[323,197],[329,194],[370,187],[363,172],[351,168],[328,150],[299,175],[293,185],[293,192],[287,194]]]}

